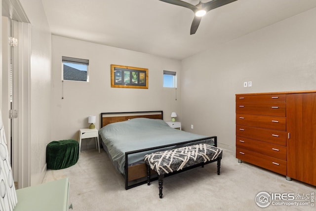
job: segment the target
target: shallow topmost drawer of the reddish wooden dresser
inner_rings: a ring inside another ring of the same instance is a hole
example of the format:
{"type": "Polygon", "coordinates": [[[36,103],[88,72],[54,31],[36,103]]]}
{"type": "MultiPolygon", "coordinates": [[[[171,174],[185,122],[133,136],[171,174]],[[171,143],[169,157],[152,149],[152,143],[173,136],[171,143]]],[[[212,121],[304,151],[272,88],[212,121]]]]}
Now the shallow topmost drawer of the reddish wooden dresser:
{"type": "Polygon", "coordinates": [[[285,102],[285,94],[236,95],[236,102],[285,102]]]}

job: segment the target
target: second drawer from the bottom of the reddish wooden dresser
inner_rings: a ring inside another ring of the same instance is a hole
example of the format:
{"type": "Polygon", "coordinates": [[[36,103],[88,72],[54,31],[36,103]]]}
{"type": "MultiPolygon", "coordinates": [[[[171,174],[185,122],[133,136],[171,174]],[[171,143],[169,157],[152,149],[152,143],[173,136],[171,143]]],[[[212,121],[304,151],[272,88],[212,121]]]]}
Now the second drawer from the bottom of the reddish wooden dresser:
{"type": "Polygon", "coordinates": [[[286,161],[286,147],[245,137],[236,137],[236,147],[286,161]]]}

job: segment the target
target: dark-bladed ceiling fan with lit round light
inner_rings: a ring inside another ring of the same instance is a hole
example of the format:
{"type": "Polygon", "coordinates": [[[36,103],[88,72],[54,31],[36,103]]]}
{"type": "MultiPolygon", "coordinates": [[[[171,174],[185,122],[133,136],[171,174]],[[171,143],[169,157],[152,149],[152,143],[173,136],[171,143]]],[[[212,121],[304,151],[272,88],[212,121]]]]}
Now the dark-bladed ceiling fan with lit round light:
{"type": "Polygon", "coordinates": [[[204,16],[208,11],[215,9],[217,7],[223,6],[225,4],[231,3],[236,0],[211,0],[205,3],[202,3],[202,1],[199,0],[197,5],[193,5],[183,0],[160,0],[160,1],[164,1],[166,3],[171,3],[174,5],[189,8],[195,13],[195,16],[191,25],[191,30],[190,30],[190,35],[193,35],[197,32],[197,28],[198,28],[199,23],[201,22],[202,16],[204,16]]]}

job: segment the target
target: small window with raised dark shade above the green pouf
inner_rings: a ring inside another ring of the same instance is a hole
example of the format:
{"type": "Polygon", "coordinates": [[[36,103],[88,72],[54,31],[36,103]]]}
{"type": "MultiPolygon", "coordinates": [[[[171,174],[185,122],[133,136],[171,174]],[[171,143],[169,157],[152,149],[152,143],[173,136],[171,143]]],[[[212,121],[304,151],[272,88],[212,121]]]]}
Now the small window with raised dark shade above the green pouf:
{"type": "Polygon", "coordinates": [[[63,56],[62,80],[89,82],[89,60],[63,56]]]}

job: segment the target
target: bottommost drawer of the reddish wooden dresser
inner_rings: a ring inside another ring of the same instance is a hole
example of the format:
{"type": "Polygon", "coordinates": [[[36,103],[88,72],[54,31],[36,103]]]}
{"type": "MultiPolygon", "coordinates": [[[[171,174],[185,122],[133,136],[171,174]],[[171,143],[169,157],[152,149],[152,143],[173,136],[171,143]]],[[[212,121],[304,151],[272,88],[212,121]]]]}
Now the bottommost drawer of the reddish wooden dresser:
{"type": "Polygon", "coordinates": [[[236,158],[286,175],[286,161],[236,147],[236,158]]]}

